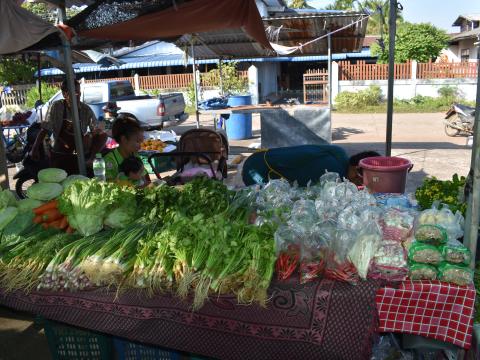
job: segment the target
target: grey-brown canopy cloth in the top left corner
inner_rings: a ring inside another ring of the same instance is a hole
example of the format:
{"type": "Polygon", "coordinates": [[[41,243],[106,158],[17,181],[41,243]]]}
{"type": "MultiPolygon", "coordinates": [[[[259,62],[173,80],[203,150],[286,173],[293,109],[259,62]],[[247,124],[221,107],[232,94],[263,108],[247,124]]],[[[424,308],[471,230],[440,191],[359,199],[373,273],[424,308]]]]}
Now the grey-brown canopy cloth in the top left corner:
{"type": "Polygon", "coordinates": [[[17,53],[59,31],[14,0],[0,1],[0,14],[0,54],[17,53]]]}

